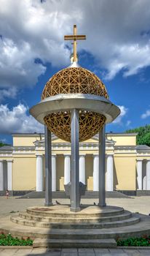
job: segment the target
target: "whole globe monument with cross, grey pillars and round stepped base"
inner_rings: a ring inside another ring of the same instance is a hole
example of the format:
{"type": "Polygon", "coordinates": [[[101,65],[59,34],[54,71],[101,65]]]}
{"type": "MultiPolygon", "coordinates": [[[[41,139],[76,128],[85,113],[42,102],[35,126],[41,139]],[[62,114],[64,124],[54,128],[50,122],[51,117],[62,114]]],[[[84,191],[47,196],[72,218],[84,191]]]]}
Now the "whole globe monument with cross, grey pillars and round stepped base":
{"type": "Polygon", "coordinates": [[[102,81],[79,67],[76,40],[85,36],[66,36],[74,41],[71,66],[50,78],[42,100],[30,113],[45,126],[45,206],[28,207],[25,212],[1,217],[0,231],[12,236],[30,236],[33,246],[115,247],[117,237],[150,234],[149,216],[132,214],[122,207],[106,206],[105,126],[120,113],[110,102],[102,81]],[[51,132],[71,141],[71,206],[52,205],[51,132]],[[80,205],[79,141],[99,134],[98,205],[80,205]]]}

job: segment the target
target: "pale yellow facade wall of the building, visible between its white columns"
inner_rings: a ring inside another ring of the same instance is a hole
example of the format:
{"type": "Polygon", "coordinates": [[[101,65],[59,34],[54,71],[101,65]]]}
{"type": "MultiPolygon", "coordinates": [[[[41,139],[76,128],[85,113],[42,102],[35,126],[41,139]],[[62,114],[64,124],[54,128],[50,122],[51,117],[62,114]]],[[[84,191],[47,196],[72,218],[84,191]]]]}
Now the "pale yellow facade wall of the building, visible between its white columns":
{"type": "MultiPolygon", "coordinates": [[[[14,135],[13,146],[34,146],[36,140],[43,139],[40,135],[14,135]]],[[[136,135],[130,134],[108,134],[108,140],[114,140],[116,146],[135,146],[136,135]]],[[[98,143],[97,140],[86,140],[86,143],[98,143]]],[[[56,139],[52,143],[65,143],[65,141],[56,139]]],[[[67,142],[66,142],[67,143],[67,142]]],[[[42,154],[44,150],[40,149],[42,154]]],[[[57,154],[56,158],[56,177],[57,177],[57,190],[64,190],[64,157],[62,154],[70,153],[70,150],[63,148],[56,148],[52,151],[52,154],[57,154]]],[[[98,154],[98,151],[94,149],[80,150],[80,154],[86,155],[85,170],[86,170],[86,184],[87,190],[93,189],[93,157],[92,154],[98,154]]],[[[106,154],[113,153],[112,148],[106,151],[106,154]]],[[[114,151],[114,189],[120,190],[135,190],[136,189],[136,158],[135,154],[131,152],[127,154],[120,154],[120,152],[114,151]]],[[[14,190],[28,190],[36,187],[36,154],[13,154],[13,157],[1,157],[1,159],[13,159],[12,162],[12,187],[14,190]]],[[[139,157],[141,158],[141,157],[139,157]]],[[[142,157],[142,159],[148,159],[148,156],[142,157]]],[[[43,163],[44,166],[44,163],[43,163]]],[[[44,168],[43,168],[44,170],[44,168]]],[[[45,176],[45,174],[44,174],[45,176]]],[[[45,181],[44,181],[45,184],[45,181]]]]}

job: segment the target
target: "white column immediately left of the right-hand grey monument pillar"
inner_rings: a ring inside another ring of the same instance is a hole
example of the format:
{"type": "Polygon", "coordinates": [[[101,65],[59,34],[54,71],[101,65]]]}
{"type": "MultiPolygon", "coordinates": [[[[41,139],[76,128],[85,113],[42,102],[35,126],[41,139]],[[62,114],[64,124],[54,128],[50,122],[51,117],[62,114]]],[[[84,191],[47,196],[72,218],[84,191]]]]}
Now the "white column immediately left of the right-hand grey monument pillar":
{"type": "Polygon", "coordinates": [[[99,158],[98,158],[98,154],[93,154],[93,191],[98,191],[98,181],[99,181],[99,175],[98,175],[98,171],[99,171],[99,158]]]}

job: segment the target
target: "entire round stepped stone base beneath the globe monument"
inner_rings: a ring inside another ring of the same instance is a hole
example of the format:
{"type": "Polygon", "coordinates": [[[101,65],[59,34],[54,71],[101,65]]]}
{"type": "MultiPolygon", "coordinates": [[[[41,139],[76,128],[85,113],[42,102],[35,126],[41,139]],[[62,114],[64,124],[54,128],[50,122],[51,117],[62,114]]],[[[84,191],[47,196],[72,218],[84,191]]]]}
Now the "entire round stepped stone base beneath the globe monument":
{"type": "Polygon", "coordinates": [[[131,214],[116,206],[34,206],[0,220],[0,230],[17,237],[33,238],[33,246],[115,247],[117,237],[150,233],[150,217],[131,214]]]}

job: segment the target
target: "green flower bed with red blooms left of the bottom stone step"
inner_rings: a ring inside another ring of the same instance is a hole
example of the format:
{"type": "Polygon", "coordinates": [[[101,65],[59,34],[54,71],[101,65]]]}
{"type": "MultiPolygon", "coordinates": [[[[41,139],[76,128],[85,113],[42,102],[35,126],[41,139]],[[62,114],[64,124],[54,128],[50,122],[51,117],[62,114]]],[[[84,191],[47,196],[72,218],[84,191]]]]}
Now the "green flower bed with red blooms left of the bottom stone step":
{"type": "Polygon", "coordinates": [[[0,246],[32,246],[33,240],[30,238],[13,238],[12,235],[5,235],[4,233],[0,234],[0,246]]]}

